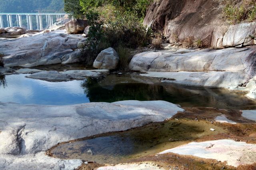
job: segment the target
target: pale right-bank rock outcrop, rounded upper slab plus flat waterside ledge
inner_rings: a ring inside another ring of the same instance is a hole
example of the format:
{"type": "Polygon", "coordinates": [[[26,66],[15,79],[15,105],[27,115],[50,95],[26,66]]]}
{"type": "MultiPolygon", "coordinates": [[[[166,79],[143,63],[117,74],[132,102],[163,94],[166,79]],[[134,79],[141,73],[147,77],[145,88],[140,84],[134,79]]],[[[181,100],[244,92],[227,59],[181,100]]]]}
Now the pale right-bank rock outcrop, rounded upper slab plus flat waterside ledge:
{"type": "Polygon", "coordinates": [[[256,47],[225,49],[173,49],[134,55],[130,69],[148,71],[163,82],[248,91],[256,99],[256,47]],[[250,83],[248,83],[250,82],[250,83]]]}

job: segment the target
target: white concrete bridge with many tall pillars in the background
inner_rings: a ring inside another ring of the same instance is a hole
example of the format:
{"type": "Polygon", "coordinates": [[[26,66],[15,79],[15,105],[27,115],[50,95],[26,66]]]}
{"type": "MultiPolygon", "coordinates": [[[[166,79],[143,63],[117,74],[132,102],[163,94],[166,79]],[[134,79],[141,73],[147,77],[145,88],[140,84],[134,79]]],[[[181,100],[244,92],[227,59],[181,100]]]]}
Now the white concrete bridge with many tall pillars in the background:
{"type": "Polygon", "coordinates": [[[15,19],[17,21],[17,24],[15,26],[23,27],[22,18],[26,16],[27,29],[33,30],[33,16],[36,17],[37,30],[43,30],[43,23],[46,22],[46,27],[50,28],[54,24],[54,19],[62,21],[64,15],[66,15],[66,13],[0,13],[0,28],[5,27],[3,22],[4,18],[6,18],[7,20],[6,27],[13,27],[13,20],[15,19]]]}

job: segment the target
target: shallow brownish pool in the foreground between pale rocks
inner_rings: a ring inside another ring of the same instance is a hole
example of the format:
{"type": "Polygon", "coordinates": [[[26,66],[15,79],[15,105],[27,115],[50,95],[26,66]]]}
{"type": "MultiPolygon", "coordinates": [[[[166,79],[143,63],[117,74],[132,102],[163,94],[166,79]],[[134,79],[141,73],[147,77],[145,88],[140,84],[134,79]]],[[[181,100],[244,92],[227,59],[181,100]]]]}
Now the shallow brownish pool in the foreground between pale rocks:
{"type": "Polygon", "coordinates": [[[124,163],[128,159],[157,154],[202,136],[220,132],[226,130],[206,121],[167,121],[67,142],[50,152],[54,157],[63,159],[117,164],[124,163]],[[216,131],[211,131],[210,128],[216,131]]]}

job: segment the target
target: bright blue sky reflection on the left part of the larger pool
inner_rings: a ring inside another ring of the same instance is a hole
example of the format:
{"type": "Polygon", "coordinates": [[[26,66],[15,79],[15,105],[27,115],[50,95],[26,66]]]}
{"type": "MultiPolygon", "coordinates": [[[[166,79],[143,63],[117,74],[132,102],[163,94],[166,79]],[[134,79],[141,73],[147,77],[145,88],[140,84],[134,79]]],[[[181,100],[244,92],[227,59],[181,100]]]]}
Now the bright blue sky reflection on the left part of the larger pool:
{"type": "Polygon", "coordinates": [[[48,82],[28,79],[26,74],[6,75],[7,87],[0,87],[1,102],[40,105],[88,103],[82,81],[48,82]]]}

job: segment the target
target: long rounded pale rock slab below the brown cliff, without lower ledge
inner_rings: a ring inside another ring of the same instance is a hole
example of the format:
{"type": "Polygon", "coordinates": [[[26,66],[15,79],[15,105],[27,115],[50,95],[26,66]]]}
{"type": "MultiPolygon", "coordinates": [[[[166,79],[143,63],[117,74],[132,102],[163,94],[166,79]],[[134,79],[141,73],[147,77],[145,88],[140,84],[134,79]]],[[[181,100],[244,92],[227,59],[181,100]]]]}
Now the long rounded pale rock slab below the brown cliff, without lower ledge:
{"type": "MultiPolygon", "coordinates": [[[[182,51],[146,51],[132,57],[136,71],[245,71],[251,72],[256,47],[182,51]]],[[[253,72],[254,74],[254,72],[253,72]]],[[[252,75],[253,76],[253,75],[252,75]]]]}

